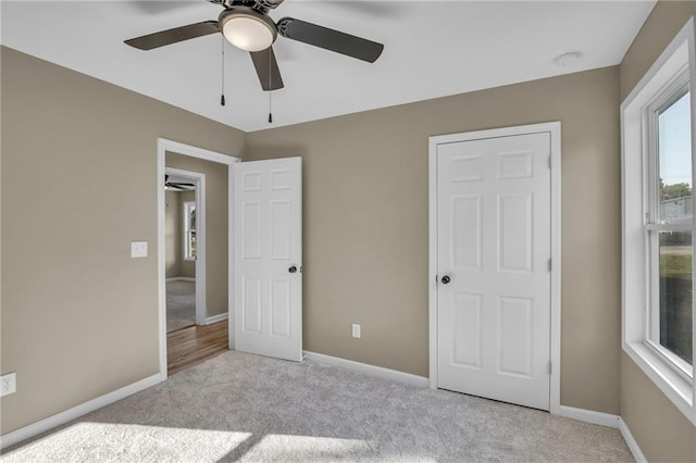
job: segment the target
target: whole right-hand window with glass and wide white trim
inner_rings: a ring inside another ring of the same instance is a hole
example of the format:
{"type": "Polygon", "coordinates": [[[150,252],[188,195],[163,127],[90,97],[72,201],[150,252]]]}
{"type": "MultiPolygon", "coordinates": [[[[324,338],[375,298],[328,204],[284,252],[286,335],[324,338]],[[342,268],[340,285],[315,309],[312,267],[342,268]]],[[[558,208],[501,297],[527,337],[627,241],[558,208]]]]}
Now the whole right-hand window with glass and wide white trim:
{"type": "Polygon", "coordinates": [[[694,408],[694,18],[621,105],[622,347],[679,410],[694,408]]]}

